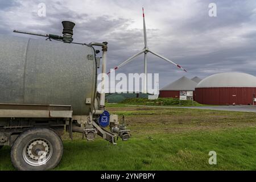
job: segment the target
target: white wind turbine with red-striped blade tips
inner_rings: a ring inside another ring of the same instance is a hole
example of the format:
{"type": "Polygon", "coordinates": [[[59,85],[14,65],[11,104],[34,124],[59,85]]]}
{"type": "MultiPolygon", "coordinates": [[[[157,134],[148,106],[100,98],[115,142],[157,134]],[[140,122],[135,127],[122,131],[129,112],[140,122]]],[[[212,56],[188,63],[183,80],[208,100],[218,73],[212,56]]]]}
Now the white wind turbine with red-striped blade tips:
{"type": "MultiPolygon", "coordinates": [[[[115,71],[118,68],[123,67],[123,65],[126,65],[127,63],[129,63],[130,61],[132,61],[135,57],[141,55],[142,53],[144,53],[144,93],[147,93],[147,53],[150,52],[155,56],[158,56],[160,58],[162,58],[163,60],[168,61],[169,63],[172,63],[174,65],[176,65],[176,67],[183,69],[179,64],[174,63],[173,61],[167,59],[166,57],[159,55],[159,53],[156,53],[154,51],[151,51],[151,49],[149,49],[147,47],[147,32],[146,32],[146,23],[145,23],[145,15],[144,15],[144,9],[142,7],[142,16],[143,16],[143,34],[144,34],[144,48],[142,49],[142,51],[136,53],[135,55],[131,56],[129,59],[127,59],[126,61],[124,61],[123,63],[119,64],[117,67],[115,67],[113,70],[115,71]]],[[[183,69],[183,71],[187,72],[185,69],[183,69]]],[[[111,71],[110,71],[111,72],[111,71]]],[[[110,73],[109,72],[109,73],[110,73]]],[[[109,74],[108,73],[108,74],[109,74]]]]}

